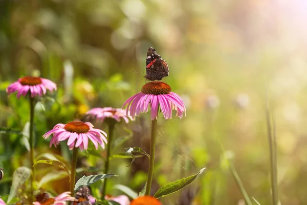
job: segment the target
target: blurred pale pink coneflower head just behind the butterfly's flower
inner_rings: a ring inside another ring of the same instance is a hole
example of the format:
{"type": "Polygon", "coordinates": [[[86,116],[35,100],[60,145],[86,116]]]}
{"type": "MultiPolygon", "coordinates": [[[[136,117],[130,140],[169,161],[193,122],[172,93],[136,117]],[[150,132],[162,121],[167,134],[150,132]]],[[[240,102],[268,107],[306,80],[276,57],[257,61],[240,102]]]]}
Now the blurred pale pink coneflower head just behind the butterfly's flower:
{"type": "Polygon", "coordinates": [[[126,115],[126,112],[118,108],[93,108],[86,112],[86,115],[92,118],[96,118],[103,122],[105,118],[113,118],[116,121],[120,122],[121,118],[125,120],[126,123],[129,122],[129,119],[132,119],[129,115],[126,115]]]}

